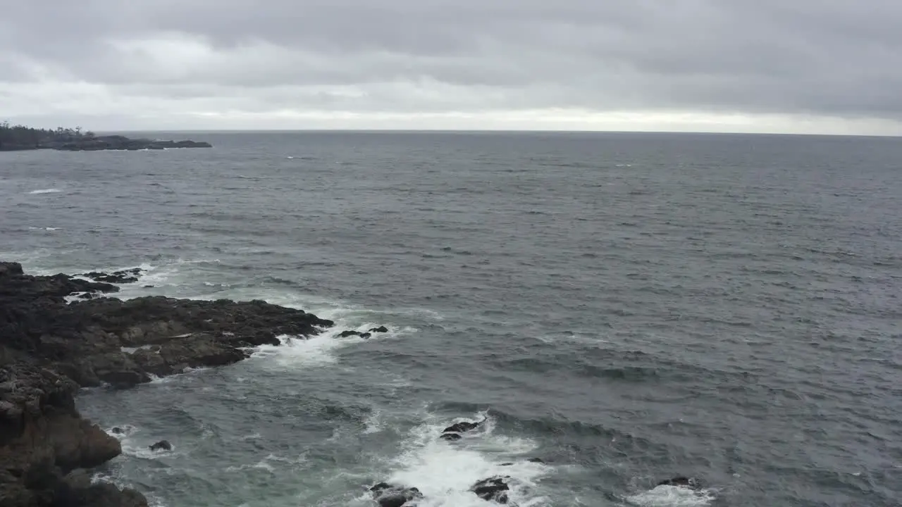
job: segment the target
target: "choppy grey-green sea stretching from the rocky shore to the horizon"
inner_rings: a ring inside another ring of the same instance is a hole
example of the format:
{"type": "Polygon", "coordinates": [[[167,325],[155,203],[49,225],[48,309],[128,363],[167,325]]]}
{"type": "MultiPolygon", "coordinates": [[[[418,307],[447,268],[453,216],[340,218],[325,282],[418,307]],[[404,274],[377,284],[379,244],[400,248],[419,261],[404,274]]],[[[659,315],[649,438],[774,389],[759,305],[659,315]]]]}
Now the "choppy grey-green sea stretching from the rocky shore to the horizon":
{"type": "Polygon", "coordinates": [[[902,501],[902,141],[190,136],[0,153],[0,255],[391,332],[85,392],[158,505],[475,507],[498,473],[521,506],[902,501]]]}

